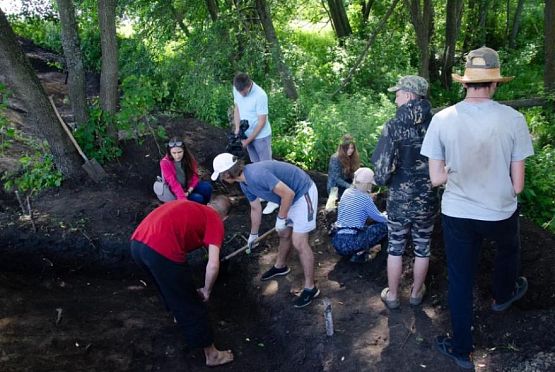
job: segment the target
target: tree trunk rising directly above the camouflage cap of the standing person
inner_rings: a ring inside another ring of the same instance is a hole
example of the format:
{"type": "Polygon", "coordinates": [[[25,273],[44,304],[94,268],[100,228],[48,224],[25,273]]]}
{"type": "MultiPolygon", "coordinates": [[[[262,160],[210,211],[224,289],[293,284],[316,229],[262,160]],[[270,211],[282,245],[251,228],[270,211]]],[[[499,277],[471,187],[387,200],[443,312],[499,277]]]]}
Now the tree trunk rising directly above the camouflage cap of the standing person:
{"type": "Polygon", "coordinates": [[[430,79],[430,40],[433,32],[434,8],[432,0],[405,0],[405,5],[409,10],[411,23],[416,33],[416,44],[420,60],[418,64],[418,74],[430,79]]]}

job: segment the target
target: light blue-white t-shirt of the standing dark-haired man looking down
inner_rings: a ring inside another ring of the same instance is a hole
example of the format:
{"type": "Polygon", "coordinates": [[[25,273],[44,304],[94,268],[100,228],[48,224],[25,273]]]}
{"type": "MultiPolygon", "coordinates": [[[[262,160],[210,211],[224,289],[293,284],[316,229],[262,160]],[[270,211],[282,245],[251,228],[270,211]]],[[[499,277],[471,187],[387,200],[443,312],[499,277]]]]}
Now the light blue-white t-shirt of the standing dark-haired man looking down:
{"type": "Polygon", "coordinates": [[[247,136],[250,136],[254,128],[256,128],[259,115],[266,115],[266,125],[264,125],[264,128],[262,128],[256,138],[264,138],[272,134],[270,120],[267,117],[268,95],[266,95],[266,92],[256,85],[254,81],[252,83],[252,89],[246,97],[243,97],[237,89],[233,87],[233,102],[239,109],[239,117],[241,120],[249,121],[249,129],[245,132],[247,136]]]}

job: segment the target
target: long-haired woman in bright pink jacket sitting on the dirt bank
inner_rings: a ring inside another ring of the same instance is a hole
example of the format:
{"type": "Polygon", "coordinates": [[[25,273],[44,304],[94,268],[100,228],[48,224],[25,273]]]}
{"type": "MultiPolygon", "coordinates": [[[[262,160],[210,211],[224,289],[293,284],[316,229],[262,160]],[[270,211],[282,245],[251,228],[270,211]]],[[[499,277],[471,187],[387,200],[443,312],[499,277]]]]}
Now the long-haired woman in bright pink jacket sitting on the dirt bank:
{"type": "Polygon", "coordinates": [[[173,137],[166,145],[166,156],[160,160],[162,177],[176,199],[189,199],[208,204],[212,195],[210,182],[201,181],[197,161],[185,142],[173,137]]]}

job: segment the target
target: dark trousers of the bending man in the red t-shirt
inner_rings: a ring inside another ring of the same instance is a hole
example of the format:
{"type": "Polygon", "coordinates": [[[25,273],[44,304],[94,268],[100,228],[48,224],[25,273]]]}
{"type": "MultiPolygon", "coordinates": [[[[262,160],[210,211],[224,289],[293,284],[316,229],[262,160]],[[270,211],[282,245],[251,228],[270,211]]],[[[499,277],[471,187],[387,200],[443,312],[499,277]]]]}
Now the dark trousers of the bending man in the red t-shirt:
{"type": "Polygon", "coordinates": [[[131,256],[157,286],[162,300],[182,329],[187,345],[202,348],[214,343],[206,306],[197,294],[186,263],[168,260],[149,246],[131,241],[131,256]]]}

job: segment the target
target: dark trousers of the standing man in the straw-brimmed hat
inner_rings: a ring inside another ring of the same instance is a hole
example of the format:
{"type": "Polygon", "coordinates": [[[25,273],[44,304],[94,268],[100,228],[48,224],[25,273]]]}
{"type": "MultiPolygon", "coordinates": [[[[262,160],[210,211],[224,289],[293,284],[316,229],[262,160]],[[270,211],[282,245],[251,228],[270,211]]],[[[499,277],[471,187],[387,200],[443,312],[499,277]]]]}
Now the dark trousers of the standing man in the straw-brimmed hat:
{"type": "Polygon", "coordinates": [[[484,239],[496,247],[493,298],[507,302],[515,288],[520,262],[518,210],[502,221],[479,221],[442,215],[449,275],[449,308],[453,349],[468,354],[472,346],[472,288],[484,239]]]}

